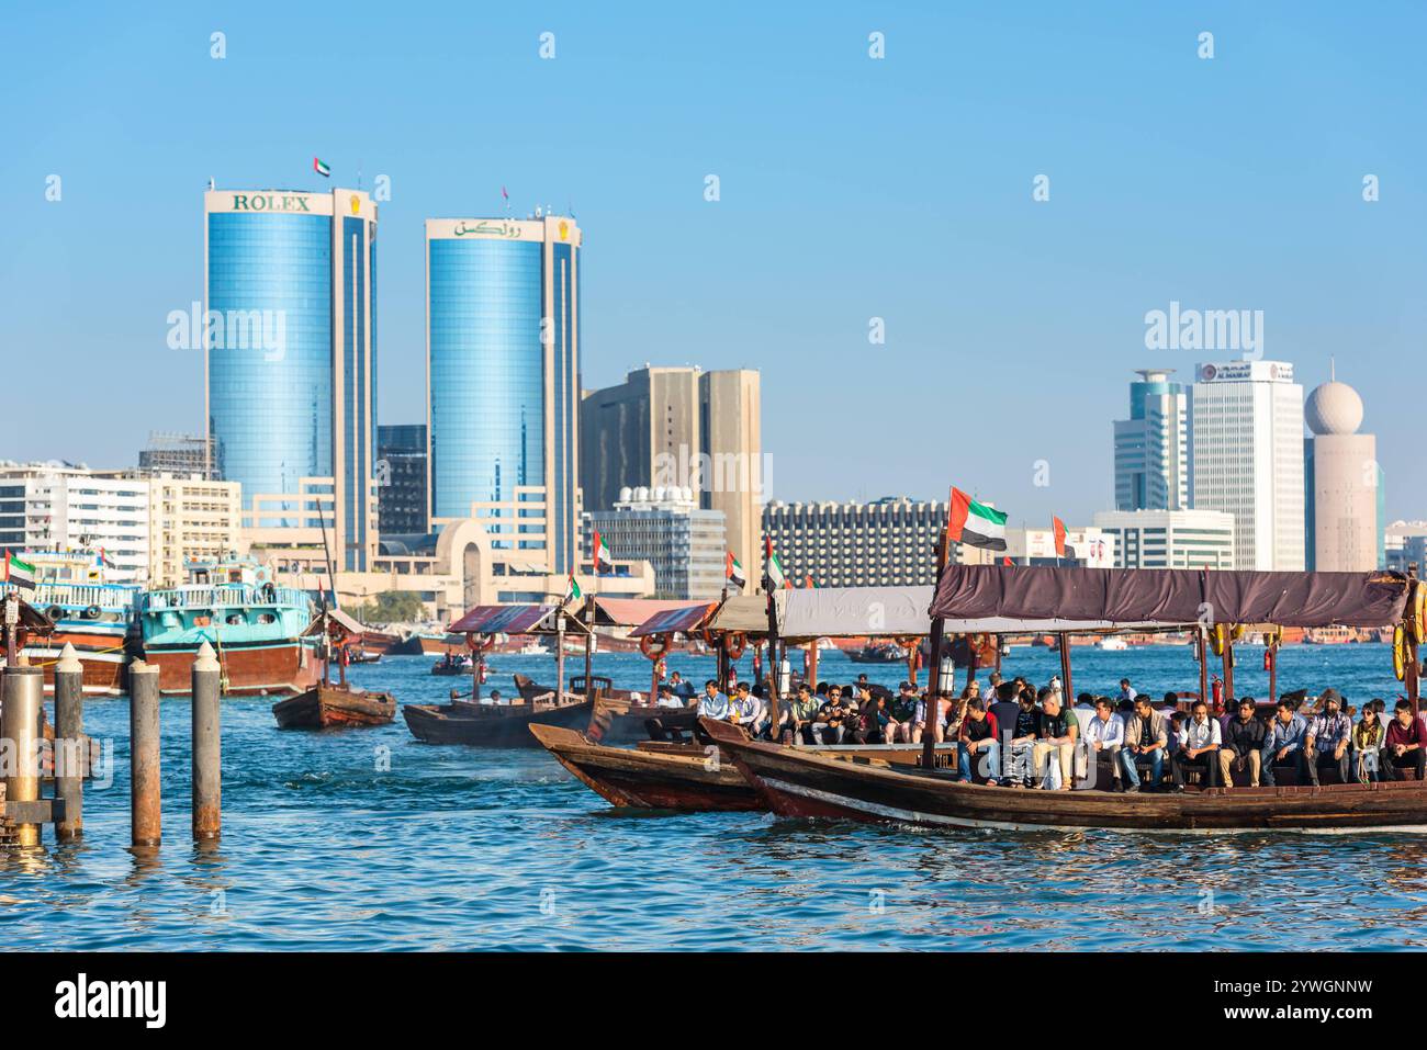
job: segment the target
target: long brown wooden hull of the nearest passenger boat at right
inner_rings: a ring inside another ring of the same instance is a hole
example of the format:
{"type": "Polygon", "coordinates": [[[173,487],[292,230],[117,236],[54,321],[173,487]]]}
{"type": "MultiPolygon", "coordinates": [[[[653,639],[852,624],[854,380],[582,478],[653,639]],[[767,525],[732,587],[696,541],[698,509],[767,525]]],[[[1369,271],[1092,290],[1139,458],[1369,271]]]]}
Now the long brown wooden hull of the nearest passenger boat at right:
{"type": "Polygon", "coordinates": [[[755,743],[726,725],[702,725],[781,816],[1010,830],[1427,830],[1427,783],[1418,782],[1216,788],[1182,795],[1017,790],[755,743]]]}

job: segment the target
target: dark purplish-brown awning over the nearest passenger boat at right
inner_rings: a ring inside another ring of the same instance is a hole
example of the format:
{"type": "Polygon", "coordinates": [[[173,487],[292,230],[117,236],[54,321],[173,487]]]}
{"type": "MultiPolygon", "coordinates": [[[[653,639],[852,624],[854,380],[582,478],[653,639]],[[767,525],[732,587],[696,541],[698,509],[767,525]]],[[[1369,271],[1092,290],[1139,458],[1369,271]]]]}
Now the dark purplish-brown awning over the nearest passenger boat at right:
{"type": "Polygon", "coordinates": [[[1406,602],[1407,576],[1400,572],[949,565],[930,612],[979,625],[948,623],[956,632],[1166,629],[1200,622],[1374,628],[1398,622],[1406,602]],[[987,626],[997,619],[1015,626],[987,626]]]}

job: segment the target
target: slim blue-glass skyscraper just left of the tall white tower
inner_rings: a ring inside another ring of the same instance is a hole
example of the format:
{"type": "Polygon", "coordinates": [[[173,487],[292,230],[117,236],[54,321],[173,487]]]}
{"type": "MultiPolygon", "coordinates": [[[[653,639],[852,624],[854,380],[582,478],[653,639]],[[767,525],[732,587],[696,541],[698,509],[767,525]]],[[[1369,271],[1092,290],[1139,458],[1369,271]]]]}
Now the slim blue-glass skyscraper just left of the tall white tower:
{"type": "Polygon", "coordinates": [[[1173,368],[1143,368],[1130,384],[1130,418],[1114,421],[1114,509],[1189,506],[1189,421],[1173,368]]]}

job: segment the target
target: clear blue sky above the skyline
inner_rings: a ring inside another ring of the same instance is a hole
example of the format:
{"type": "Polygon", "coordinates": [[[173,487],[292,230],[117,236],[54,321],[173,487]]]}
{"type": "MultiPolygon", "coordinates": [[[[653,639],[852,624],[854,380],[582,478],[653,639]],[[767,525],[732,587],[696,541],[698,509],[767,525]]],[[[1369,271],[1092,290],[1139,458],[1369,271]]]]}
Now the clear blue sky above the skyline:
{"type": "Polygon", "coordinates": [[[1113,502],[1132,369],[1229,357],[1146,350],[1176,300],[1263,310],[1266,357],[1309,388],[1336,355],[1388,516],[1427,516],[1424,10],[11,6],[0,458],[120,467],[150,429],[200,429],[201,360],[166,317],[201,298],[208,178],[360,170],[392,190],[382,422],[424,417],[422,220],[495,214],[504,184],[585,231],[586,387],[645,361],[762,369],[775,496],[958,484],[1013,524],[1085,521],[1113,502]]]}

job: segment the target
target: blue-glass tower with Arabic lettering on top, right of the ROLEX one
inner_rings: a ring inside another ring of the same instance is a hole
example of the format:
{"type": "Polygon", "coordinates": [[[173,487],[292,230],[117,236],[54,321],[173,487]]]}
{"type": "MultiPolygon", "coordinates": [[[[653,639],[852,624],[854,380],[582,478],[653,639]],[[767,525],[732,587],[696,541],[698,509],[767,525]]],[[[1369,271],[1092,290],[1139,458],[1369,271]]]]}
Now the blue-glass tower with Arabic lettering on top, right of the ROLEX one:
{"type": "Polygon", "coordinates": [[[479,518],[547,574],[579,558],[574,220],[427,220],[432,525],[479,518]]]}

